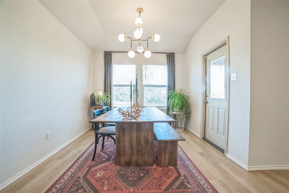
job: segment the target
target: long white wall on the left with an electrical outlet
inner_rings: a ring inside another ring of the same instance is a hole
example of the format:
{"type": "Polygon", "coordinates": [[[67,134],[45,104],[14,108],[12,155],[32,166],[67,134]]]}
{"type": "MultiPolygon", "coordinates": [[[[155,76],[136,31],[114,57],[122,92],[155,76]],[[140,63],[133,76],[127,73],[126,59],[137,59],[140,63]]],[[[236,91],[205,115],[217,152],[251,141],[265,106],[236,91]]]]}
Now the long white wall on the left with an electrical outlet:
{"type": "Polygon", "coordinates": [[[90,127],[92,63],[38,1],[1,1],[1,188],[90,127]]]}

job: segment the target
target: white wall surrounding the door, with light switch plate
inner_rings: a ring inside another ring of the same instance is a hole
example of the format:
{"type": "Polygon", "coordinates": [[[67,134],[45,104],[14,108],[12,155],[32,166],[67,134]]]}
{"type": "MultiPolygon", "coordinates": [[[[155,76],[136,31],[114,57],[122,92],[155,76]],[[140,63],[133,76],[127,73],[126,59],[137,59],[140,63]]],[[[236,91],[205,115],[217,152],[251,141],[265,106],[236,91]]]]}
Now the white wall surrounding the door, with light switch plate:
{"type": "Polygon", "coordinates": [[[227,154],[248,164],[250,116],[250,1],[225,1],[192,37],[185,54],[186,88],[192,114],[186,126],[200,135],[202,93],[201,54],[229,35],[229,134],[227,154]]]}

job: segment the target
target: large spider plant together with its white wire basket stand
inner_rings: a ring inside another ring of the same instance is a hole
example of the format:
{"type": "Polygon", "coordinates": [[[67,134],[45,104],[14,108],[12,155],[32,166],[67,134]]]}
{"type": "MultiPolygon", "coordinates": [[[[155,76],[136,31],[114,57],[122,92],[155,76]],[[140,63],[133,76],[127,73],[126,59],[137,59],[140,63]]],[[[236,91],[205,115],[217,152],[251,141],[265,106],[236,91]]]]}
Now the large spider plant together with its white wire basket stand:
{"type": "Polygon", "coordinates": [[[183,88],[171,90],[167,96],[170,109],[169,115],[177,120],[176,123],[172,123],[172,127],[176,131],[181,132],[184,130],[185,121],[190,114],[189,96],[183,88]]]}

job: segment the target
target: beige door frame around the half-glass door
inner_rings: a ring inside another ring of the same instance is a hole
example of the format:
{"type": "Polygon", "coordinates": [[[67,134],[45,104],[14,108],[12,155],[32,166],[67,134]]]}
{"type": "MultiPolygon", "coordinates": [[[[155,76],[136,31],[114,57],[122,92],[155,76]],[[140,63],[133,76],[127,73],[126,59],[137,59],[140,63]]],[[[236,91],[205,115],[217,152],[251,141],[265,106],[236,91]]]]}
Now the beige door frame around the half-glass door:
{"type": "Polygon", "coordinates": [[[200,138],[205,137],[205,117],[206,117],[206,105],[204,101],[206,100],[206,56],[215,50],[219,49],[223,45],[226,46],[226,58],[225,58],[225,83],[226,83],[226,96],[227,96],[227,115],[225,122],[225,155],[227,154],[227,137],[228,137],[228,123],[229,123],[229,36],[225,37],[223,40],[219,41],[205,52],[201,54],[201,64],[202,64],[202,93],[201,93],[201,128],[200,128],[200,138]]]}

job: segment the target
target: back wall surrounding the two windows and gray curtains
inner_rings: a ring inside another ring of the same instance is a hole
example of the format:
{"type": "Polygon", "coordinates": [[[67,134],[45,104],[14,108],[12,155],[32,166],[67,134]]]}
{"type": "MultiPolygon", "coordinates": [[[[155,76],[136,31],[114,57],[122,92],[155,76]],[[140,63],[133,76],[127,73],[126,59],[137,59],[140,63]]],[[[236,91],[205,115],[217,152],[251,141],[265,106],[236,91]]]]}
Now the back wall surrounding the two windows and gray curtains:
{"type": "MultiPolygon", "coordinates": [[[[101,48],[94,52],[94,68],[93,68],[93,89],[103,90],[103,76],[104,76],[104,50],[101,48]]],[[[134,58],[129,58],[127,53],[112,53],[113,64],[135,64],[137,71],[142,72],[142,65],[166,65],[166,54],[152,53],[150,58],[145,58],[144,54],[136,54],[134,58]]],[[[184,87],[184,54],[175,54],[175,76],[176,76],[176,89],[184,87]]],[[[138,79],[142,80],[142,74],[138,73],[138,79]]],[[[140,85],[141,82],[138,82],[140,85]]],[[[139,87],[139,93],[142,88],[139,87]]],[[[142,95],[138,99],[141,100],[142,95]]]]}

